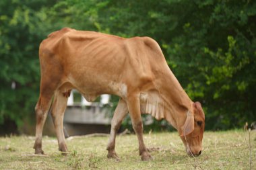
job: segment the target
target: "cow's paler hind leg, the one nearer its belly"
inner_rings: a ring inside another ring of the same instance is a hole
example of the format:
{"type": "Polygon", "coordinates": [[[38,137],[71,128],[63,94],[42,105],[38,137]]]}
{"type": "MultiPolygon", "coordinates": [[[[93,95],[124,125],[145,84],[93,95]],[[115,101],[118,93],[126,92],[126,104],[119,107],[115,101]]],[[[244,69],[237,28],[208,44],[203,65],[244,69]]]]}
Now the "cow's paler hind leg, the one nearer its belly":
{"type": "Polygon", "coordinates": [[[67,107],[67,98],[70,95],[70,91],[61,93],[61,91],[55,91],[55,97],[52,108],[52,118],[55,125],[55,131],[59,144],[59,151],[63,152],[63,155],[67,154],[67,145],[65,142],[65,136],[63,132],[63,116],[67,107]]]}

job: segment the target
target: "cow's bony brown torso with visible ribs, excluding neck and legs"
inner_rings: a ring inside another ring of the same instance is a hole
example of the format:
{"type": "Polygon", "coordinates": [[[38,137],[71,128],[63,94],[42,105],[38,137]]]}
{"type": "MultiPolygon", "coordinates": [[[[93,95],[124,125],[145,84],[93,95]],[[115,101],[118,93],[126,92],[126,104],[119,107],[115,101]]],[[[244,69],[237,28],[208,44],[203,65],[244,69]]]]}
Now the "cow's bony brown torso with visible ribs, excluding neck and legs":
{"type": "Polygon", "coordinates": [[[52,69],[55,65],[61,75],[60,86],[68,82],[91,96],[123,95],[124,86],[150,83],[166,65],[160,47],[151,38],[120,38],[70,28],[53,32],[42,42],[40,62],[41,70],[43,63],[52,69]]]}

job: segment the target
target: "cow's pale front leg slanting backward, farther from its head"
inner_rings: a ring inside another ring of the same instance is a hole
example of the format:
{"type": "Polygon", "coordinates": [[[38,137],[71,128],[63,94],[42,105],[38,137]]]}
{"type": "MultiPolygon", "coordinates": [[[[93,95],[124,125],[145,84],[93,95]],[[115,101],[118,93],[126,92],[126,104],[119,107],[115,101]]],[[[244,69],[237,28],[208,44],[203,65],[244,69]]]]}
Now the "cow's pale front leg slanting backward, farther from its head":
{"type": "Polygon", "coordinates": [[[119,130],[121,123],[127,114],[127,104],[123,99],[120,98],[111,122],[110,138],[108,140],[108,146],[106,148],[108,150],[108,158],[114,158],[117,160],[119,159],[117,153],[115,152],[115,139],[117,136],[117,130],[119,130]]]}

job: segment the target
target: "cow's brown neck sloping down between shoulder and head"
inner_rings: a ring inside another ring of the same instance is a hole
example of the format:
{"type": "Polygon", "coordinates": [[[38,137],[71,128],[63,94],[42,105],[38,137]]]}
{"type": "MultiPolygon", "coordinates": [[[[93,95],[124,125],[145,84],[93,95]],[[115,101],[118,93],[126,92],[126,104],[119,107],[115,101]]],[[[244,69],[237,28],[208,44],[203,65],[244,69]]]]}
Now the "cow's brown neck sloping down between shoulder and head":
{"type": "Polygon", "coordinates": [[[164,101],[164,118],[180,132],[193,101],[170,70],[162,74],[164,81],[158,82],[161,83],[160,95],[164,101]]]}

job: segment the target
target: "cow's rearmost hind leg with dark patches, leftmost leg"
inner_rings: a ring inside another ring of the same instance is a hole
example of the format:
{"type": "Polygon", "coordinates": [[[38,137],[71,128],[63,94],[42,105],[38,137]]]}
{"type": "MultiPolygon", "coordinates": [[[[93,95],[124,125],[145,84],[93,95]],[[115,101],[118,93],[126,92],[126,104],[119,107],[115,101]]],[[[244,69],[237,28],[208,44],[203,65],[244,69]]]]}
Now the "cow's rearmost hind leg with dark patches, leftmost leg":
{"type": "Polygon", "coordinates": [[[40,94],[38,102],[36,103],[36,140],[34,142],[34,149],[36,154],[44,154],[42,151],[42,129],[44,128],[44,122],[46,120],[50,105],[52,95],[40,94]]]}

